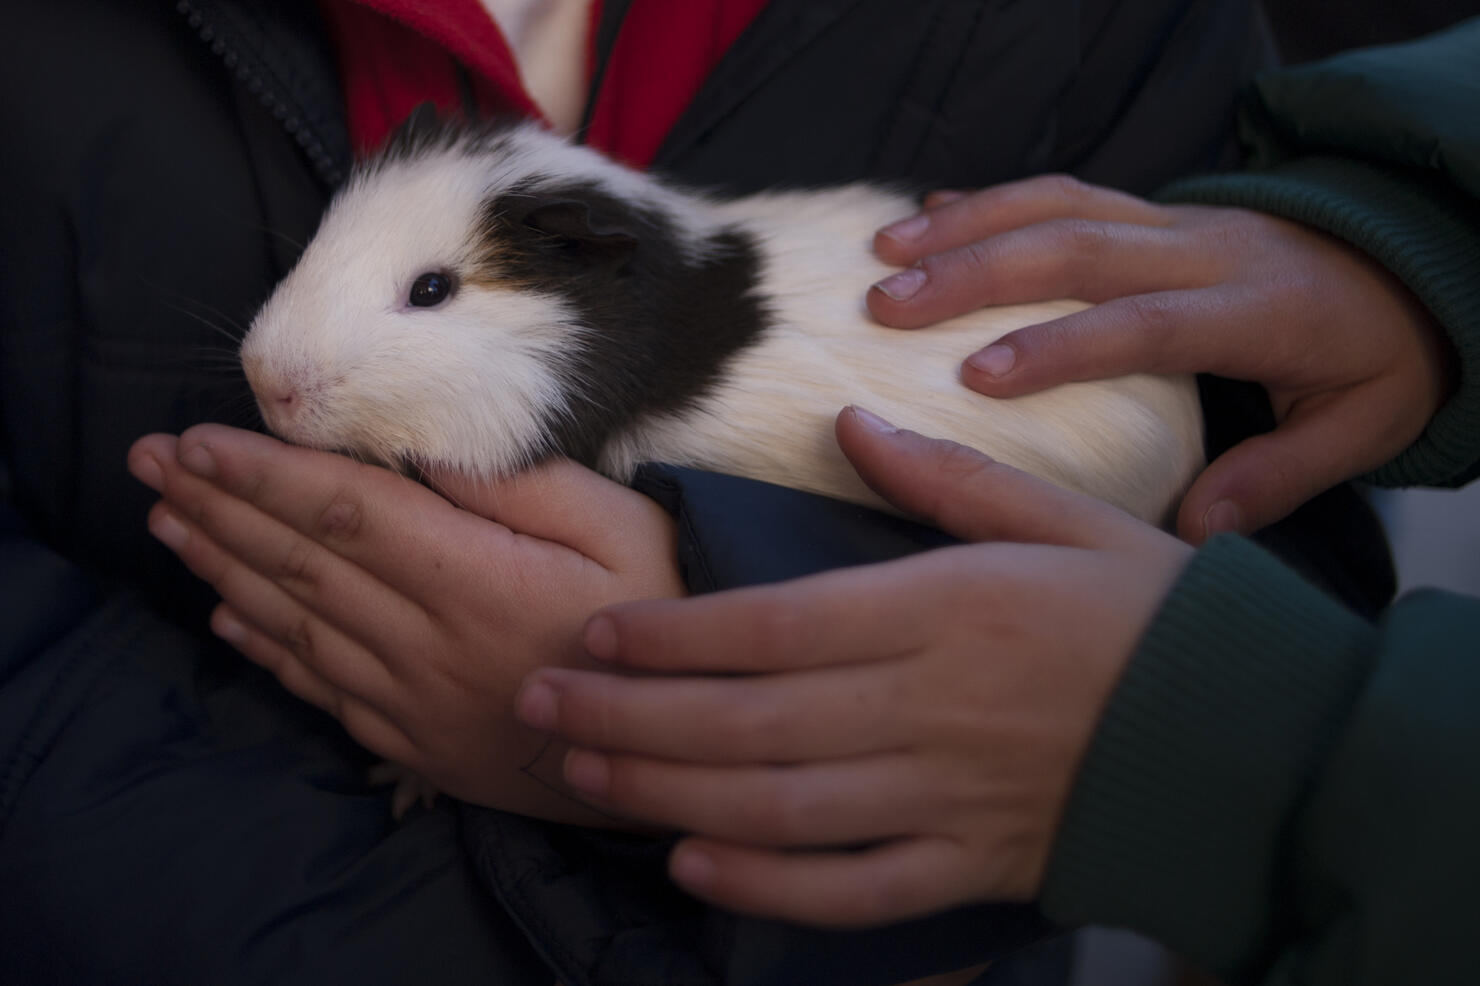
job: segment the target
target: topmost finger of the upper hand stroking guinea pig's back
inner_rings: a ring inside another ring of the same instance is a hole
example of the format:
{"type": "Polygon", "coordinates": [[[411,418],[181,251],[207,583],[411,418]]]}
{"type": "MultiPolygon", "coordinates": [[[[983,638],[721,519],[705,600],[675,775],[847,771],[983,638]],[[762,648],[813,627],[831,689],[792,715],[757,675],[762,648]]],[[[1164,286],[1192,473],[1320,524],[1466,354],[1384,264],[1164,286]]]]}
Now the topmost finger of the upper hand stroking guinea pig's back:
{"type": "Polygon", "coordinates": [[[909,266],[931,253],[953,250],[1049,219],[1077,218],[1147,227],[1172,224],[1172,213],[1162,206],[1111,188],[1088,185],[1069,175],[1040,175],[949,200],[934,195],[925,204],[925,212],[885,227],[875,235],[873,252],[879,259],[909,266]]]}

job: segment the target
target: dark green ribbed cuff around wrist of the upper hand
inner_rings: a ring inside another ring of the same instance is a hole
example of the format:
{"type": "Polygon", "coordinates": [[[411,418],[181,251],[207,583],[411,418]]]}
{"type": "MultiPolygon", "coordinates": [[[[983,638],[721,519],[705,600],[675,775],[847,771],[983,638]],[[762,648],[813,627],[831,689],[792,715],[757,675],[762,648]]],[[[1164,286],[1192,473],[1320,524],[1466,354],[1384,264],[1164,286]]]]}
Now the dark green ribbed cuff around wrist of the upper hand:
{"type": "Polygon", "coordinates": [[[1462,486],[1480,475],[1480,204],[1437,173],[1335,157],[1191,178],[1157,198],[1294,219],[1351,243],[1402,280],[1449,335],[1459,388],[1407,450],[1363,478],[1462,486]]]}

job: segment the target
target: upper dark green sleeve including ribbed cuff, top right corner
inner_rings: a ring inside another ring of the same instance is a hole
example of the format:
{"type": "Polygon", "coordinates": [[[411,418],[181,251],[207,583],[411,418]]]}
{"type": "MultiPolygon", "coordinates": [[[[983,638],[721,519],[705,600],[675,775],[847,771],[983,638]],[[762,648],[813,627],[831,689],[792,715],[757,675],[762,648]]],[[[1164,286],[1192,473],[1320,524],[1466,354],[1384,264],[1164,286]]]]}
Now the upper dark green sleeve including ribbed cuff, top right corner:
{"type": "Polygon", "coordinates": [[[1480,18],[1267,76],[1240,129],[1251,170],[1157,197],[1294,219],[1397,275],[1449,335],[1459,386],[1418,441],[1366,478],[1462,486],[1480,475],[1480,18]]]}

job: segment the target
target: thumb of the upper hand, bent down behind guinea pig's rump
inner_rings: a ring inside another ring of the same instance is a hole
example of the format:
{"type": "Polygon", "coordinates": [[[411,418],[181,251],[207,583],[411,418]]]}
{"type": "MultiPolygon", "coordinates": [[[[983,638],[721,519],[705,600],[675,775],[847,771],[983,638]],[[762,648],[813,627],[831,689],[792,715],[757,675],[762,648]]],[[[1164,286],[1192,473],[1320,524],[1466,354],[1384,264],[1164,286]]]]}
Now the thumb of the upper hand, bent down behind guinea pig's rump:
{"type": "Polygon", "coordinates": [[[1252,533],[1376,468],[1396,452],[1373,443],[1390,423],[1385,407],[1373,388],[1296,407],[1274,431],[1246,438],[1209,463],[1183,499],[1178,533],[1193,543],[1225,530],[1252,533]]]}

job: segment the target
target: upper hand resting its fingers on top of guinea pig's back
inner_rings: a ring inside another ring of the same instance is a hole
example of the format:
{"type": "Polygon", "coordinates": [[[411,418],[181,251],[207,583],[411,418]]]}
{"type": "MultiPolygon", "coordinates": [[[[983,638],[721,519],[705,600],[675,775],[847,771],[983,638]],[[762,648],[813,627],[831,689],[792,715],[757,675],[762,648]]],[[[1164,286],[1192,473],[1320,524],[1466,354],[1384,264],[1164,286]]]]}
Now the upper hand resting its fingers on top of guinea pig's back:
{"type": "Polygon", "coordinates": [[[888,326],[1098,302],[966,357],[962,380],[989,397],[1132,372],[1262,383],[1279,426],[1196,480],[1177,518],[1193,542],[1271,524],[1382,465],[1452,388],[1447,341],[1396,277],[1333,237],[1255,212],[1157,206],[1046,176],[928,198],[882,229],[875,252],[915,265],[869,292],[888,326]]]}

